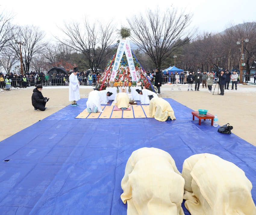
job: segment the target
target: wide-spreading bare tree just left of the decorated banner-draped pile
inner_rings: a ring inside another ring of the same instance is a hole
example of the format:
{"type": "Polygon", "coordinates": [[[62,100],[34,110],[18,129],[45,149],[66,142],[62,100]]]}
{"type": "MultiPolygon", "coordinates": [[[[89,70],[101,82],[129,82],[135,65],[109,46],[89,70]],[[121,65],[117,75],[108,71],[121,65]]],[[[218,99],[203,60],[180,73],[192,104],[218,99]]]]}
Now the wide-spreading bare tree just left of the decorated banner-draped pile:
{"type": "Polygon", "coordinates": [[[55,38],[74,51],[83,53],[92,72],[97,71],[101,62],[112,52],[115,25],[112,24],[112,21],[106,25],[99,21],[90,24],[86,18],[83,27],[77,22],[64,23],[64,26],[60,29],[66,34],[67,39],[55,38]]]}

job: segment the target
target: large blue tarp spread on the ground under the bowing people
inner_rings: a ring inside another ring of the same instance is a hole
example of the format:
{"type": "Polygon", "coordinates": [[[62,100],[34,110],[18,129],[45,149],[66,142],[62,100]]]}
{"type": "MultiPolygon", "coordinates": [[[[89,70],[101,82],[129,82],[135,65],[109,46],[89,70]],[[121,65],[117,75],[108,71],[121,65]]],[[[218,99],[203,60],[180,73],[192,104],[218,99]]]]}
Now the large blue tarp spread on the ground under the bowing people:
{"type": "Polygon", "coordinates": [[[199,126],[192,110],[172,99],[166,100],[177,119],[165,122],[75,119],[86,100],[0,142],[1,160],[11,159],[0,162],[1,214],[126,215],[121,179],[128,158],[142,147],[167,151],[180,172],[184,160],[198,153],[235,163],[251,181],[256,202],[256,148],[250,143],[218,133],[211,121],[199,126]]]}

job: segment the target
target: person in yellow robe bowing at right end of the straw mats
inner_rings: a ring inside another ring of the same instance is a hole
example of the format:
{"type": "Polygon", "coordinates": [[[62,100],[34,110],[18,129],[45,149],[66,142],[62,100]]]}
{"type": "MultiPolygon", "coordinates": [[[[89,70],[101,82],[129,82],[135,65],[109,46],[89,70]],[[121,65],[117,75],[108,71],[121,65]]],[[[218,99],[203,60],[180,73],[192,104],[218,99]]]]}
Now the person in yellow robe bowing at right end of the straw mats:
{"type": "Polygon", "coordinates": [[[176,119],[174,111],[169,102],[162,98],[154,97],[149,102],[149,115],[155,117],[158,121],[176,119]]]}

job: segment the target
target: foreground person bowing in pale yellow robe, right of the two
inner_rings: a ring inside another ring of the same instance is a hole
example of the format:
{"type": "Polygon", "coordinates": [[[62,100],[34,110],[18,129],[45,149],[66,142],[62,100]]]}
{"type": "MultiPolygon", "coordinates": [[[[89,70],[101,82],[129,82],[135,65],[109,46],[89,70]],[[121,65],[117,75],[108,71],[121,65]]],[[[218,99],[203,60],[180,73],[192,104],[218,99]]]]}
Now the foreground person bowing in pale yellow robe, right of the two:
{"type": "Polygon", "coordinates": [[[252,215],[252,184],[235,164],[213,154],[195,154],[183,163],[185,207],[191,215],[252,215]]]}

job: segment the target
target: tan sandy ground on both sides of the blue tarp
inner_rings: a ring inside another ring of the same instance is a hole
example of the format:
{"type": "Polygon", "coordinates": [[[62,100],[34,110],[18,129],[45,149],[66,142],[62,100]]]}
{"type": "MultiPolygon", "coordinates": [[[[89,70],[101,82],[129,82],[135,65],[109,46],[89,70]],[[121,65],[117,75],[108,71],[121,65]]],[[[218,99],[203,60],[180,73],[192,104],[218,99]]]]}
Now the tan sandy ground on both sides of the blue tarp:
{"type": "MultiPolygon", "coordinates": [[[[186,85],[181,85],[181,92],[176,87],[171,92],[171,88],[172,85],[162,86],[160,97],[173,98],[193,110],[207,109],[212,115],[217,114],[219,125],[229,123],[234,127],[234,134],[256,146],[256,86],[238,85],[237,91],[226,90],[224,96],[212,95],[201,86],[200,91],[187,91],[186,85]]],[[[0,141],[70,104],[67,87],[45,87],[42,94],[50,98],[46,105],[48,109],[44,112],[34,111],[31,104],[33,89],[0,92],[0,141]]],[[[90,91],[91,87],[81,86],[80,97],[88,97],[90,91]]]]}

